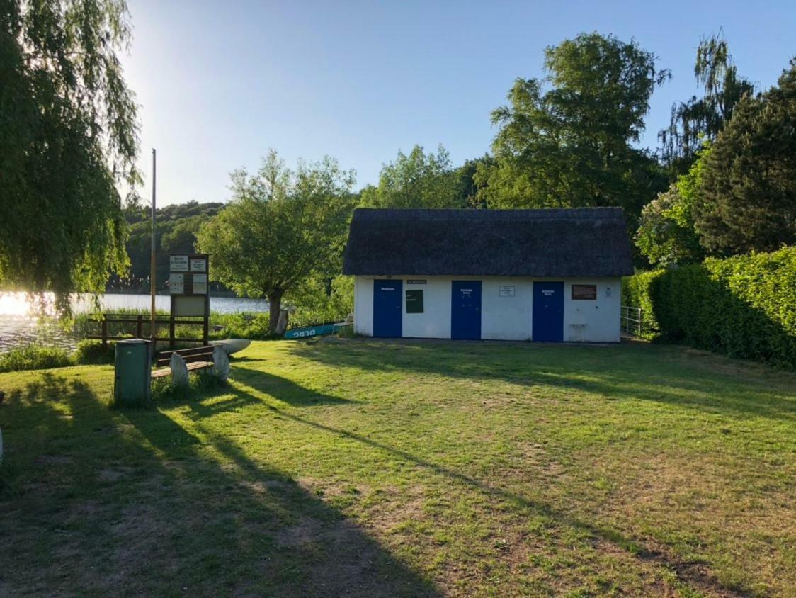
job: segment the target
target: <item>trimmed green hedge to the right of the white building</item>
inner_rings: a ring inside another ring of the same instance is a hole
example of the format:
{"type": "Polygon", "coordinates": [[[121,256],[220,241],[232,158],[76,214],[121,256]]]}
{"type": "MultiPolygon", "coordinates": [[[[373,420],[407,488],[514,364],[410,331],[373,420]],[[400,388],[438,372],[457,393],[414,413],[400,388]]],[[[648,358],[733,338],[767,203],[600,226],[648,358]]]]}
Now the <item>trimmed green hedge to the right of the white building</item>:
{"type": "Polygon", "coordinates": [[[646,338],[796,368],[796,247],[630,276],[622,303],[646,338]]]}

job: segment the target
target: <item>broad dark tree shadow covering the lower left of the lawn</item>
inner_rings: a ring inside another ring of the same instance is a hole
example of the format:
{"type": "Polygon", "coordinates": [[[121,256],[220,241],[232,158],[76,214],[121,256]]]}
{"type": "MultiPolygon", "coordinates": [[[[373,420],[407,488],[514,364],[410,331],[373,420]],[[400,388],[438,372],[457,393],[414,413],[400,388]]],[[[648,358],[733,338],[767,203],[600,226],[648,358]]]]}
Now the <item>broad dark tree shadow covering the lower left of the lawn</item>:
{"type": "MultiPolygon", "coordinates": [[[[226,405],[248,402],[239,393],[226,405]]],[[[89,385],[51,373],[6,403],[4,593],[439,595],[201,422],[192,433],[157,409],[111,411],[89,385]]]]}

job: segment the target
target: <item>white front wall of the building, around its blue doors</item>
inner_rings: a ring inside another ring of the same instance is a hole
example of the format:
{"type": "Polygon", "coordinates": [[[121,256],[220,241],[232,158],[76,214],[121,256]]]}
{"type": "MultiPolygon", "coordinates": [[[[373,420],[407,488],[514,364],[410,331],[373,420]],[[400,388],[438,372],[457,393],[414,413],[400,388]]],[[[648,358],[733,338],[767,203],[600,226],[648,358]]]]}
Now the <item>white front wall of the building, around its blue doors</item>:
{"type": "MultiPolygon", "coordinates": [[[[357,276],[354,283],[354,331],[373,335],[373,280],[387,276],[357,276]]],[[[451,280],[470,276],[392,276],[407,289],[423,289],[423,314],[406,313],[403,303],[403,334],[408,338],[451,338],[451,280]],[[426,284],[409,285],[408,279],[426,284]]],[[[481,338],[530,340],[532,337],[533,281],[555,278],[482,277],[481,338]],[[514,287],[513,296],[500,295],[501,287],[514,287]]],[[[621,279],[564,279],[564,341],[619,342],[621,279]],[[596,284],[597,299],[573,300],[572,284],[596,284]]]]}

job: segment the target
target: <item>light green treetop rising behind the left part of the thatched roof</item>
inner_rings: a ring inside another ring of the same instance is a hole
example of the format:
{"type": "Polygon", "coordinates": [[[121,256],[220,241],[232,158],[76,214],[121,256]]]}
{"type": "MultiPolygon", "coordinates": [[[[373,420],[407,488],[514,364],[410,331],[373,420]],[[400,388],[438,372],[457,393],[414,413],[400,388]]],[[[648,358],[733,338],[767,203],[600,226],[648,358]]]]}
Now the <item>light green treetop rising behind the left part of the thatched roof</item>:
{"type": "Polygon", "coordinates": [[[395,162],[385,164],[379,185],[365,187],[361,203],[373,208],[463,208],[462,196],[451,157],[443,146],[425,153],[415,146],[409,154],[398,152],[395,162]]]}

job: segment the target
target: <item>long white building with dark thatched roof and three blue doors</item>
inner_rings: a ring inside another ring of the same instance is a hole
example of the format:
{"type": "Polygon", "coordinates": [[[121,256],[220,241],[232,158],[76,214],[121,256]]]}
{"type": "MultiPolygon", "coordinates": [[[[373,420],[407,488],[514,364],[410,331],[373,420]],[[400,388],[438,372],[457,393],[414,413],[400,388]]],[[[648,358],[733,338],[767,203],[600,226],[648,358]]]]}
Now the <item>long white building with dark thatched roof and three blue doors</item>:
{"type": "Polygon", "coordinates": [[[343,272],[376,337],[618,342],[620,208],[357,209],[343,272]]]}

